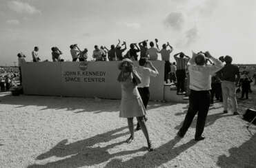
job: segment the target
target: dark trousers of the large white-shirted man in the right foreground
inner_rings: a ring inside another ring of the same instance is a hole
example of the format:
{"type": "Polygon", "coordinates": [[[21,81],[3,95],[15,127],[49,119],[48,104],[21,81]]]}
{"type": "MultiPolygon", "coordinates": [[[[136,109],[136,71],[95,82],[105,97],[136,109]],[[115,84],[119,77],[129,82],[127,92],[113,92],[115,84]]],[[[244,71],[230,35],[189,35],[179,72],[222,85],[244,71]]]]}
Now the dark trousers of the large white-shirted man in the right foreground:
{"type": "Polygon", "coordinates": [[[195,91],[191,90],[189,96],[189,107],[184,123],[179,129],[179,135],[184,136],[190,127],[195,114],[197,114],[197,127],[195,138],[199,138],[204,132],[204,125],[206,124],[206,117],[210,107],[210,92],[209,91],[195,91]]]}

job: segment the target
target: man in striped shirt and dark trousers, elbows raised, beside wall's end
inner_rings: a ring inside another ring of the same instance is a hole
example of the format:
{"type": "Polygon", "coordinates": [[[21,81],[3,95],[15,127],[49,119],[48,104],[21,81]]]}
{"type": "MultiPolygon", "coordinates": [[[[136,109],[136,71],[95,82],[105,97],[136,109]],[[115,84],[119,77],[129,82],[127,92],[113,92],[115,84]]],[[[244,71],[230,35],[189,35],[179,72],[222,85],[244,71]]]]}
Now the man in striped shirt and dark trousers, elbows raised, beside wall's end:
{"type": "Polygon", "coordinates": [[[188,64],[190,57],[186,56],[183,52],[179,52],[175,54],[173,57],[177,63],[177,70],[176,70],[177,94],[186,94],[185,92],[186,66],[188,64]]]}

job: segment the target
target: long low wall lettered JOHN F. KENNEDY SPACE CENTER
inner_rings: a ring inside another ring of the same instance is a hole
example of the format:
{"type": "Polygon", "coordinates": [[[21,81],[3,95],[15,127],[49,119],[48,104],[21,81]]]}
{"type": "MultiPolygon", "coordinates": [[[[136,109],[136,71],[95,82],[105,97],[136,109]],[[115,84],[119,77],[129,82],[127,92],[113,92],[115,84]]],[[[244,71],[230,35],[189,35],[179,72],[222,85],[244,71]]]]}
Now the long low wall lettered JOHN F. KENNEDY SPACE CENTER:
{"type": "MultiPolygon", "coordinates": [[[[119,61],[41,62],[22,65],[25,94],[121,98],[119,61]],[[36,83],[36,85],[35,85],[36,83]]],[[[164,99],[164,61],[153,61],[159,76],[151,78],[150,98],[164,99]]],[[[137,61],[135,61],[137,66],[137,61]]]]}

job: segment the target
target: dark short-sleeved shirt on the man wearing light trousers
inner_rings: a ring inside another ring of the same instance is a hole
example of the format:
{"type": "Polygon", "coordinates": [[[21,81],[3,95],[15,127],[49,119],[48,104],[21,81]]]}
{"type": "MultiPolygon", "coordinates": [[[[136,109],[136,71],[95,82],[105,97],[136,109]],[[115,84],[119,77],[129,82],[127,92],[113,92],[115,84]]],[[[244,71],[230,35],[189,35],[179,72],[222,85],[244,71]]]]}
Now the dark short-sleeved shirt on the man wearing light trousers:
{"type": "Polygon", "coordinates": [[[235,82],[235,75],[239,74],[239,67],[233,64],[226,64],[218,73],[221,74],[221,81],[235,82]]]}

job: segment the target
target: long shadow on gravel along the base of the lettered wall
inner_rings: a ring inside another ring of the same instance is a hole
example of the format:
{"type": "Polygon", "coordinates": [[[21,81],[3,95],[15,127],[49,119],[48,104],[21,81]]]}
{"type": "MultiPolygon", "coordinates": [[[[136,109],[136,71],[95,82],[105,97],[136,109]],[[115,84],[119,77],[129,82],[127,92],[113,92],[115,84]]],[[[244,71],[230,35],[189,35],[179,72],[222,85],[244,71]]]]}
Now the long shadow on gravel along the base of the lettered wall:
{"type": "MultiPolygon", "coordinates": [[[[119,112],[120,100],[109,100],[99,98],[72,98],[57,96],[12,96],[10,93],[1,96],[0,104],[18,105],[16,108],[35,105],[41,107],[39,110],[63,109],[66,111],[76,110],[75,113],[94,112],[119,112]],[[76,103],[74,103],[76,102],[76,103]],[[104,107],[102,107],[104,105],[104,107]]],[[[150,101],[148,109],[170,106],[174,103],[160,103],[150,101]]]]}

